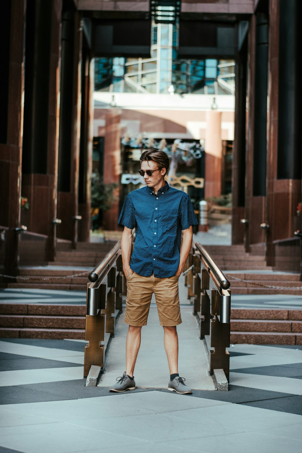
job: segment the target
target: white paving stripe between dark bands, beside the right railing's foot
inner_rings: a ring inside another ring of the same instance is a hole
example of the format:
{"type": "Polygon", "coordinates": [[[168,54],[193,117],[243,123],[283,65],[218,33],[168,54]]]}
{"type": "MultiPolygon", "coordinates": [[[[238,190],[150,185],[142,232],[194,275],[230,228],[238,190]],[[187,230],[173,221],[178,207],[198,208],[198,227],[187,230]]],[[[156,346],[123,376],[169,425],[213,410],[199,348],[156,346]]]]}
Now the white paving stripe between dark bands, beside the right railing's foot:
{"type": "Polygon", "coordinates": [[[230,383],[235,386],[302,395],[302,379],[294,379],[292,377],[230,372],[230,383]]]}

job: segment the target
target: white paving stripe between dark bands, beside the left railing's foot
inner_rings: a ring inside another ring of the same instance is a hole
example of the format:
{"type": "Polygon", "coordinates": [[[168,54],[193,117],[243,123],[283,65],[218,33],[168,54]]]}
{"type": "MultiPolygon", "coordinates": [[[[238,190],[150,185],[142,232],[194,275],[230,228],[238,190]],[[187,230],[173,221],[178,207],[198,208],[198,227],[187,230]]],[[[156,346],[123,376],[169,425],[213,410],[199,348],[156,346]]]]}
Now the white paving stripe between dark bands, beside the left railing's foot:
{"type": "Polygon", "coordinates": [[[20,386],[37,384],[40,382],[69,381],[83,379],[82,366],[68,366],[67,368],[42,368],[34,370],[0,371],[0,386],[20,386]]]}

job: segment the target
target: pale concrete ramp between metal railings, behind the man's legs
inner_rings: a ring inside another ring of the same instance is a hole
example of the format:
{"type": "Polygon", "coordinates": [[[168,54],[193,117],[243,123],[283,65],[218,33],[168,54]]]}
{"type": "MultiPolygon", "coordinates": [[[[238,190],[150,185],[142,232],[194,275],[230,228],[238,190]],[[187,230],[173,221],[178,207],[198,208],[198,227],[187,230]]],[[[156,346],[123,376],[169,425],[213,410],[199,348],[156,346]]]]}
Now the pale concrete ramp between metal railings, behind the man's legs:
{"type": "MultiPolygon", "coordinates": [[[[195,390],[217,390],[209,365],[204,341],[198,337],[197,321],[191,306],[181,307],[182,324],[177,326],[179,341],[179,376],[195,390]]],[[[128,325],[124,314],[116,326],[105,363],[105,372],[99,380],[99,387],[112,386],[116,378],[125,371],[125,342],[128,325]]],[[[151,304],[148,324],[142,328],[142,341],[134,370],[137,387],[167,388],[170,374],[166,352],[163,346],[163,328],[159,325],[155,304],[151,304]]]]}

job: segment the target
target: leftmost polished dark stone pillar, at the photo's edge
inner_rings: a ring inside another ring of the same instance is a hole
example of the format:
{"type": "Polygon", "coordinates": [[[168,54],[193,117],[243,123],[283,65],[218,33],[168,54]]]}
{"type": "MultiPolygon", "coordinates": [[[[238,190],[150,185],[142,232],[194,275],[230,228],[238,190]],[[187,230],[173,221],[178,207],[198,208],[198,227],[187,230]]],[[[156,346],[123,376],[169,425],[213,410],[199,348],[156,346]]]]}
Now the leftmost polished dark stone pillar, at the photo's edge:
{"type": "MultiPolygon", "coordinates": [[[[1,102],[4,114],[3,134],[0,139],[0,225],[8,227],[6,232],[5,273],[11,274],[19,264],[19,235],[15,228],[20,226],[21,196],[21,153],[23,124],[23,87],[24,87],[24,25],[25,0],[11,0],[1,5],[6,13],[2,31],[7,33],[9,43],[6,55],[8,74],[5,81],[7,102],[1,102]]],[[[3,69],[5,73],[5,69],[3,69]]]]}

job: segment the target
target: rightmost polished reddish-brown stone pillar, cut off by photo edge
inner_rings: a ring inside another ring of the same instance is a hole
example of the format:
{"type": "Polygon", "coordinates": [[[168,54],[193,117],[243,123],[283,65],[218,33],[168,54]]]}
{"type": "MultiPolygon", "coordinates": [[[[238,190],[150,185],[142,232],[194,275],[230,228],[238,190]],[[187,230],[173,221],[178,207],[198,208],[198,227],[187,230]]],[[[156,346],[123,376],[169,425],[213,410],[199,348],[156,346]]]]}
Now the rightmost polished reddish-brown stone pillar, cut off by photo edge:
{"type": "MultiPolygon", "coordinates": [[[[273,241],[293,237],[301,201],[301,2],[270,1],[268,72],[268,181],[266,259],[274,265],[273,241]],[[282,38],[279,35],[282,33],[282,38]],[[284,136],[282,135],[284,134],[284,136]],[[282,135],[282,136],[281,136],[282,135]]],[[[301,219],[301,217],[300,217],[301,219]]],[[[300,220],[301,224],[301,220],[300,220]]]]}

